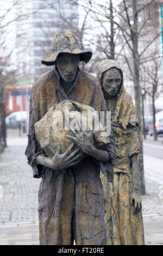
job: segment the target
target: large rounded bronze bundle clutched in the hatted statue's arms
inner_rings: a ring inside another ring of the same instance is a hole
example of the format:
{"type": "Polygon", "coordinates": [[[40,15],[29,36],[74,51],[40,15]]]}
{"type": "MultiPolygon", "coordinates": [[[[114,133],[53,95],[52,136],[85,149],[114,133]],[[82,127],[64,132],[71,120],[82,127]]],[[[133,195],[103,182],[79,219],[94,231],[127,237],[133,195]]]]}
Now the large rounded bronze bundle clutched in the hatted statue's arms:
{"type": "MultiPolygon", "coordinates": [[[[49,108],[45,116],[35,123],[36,139],[48,157],[54,156],[59,144],[60,154],[64,154],[70,147],[73,141],[66,135],[74,136],[70,126],[81,129],[77,125],[77,119],[81,125],[83,124],[82,129],[93,129],[93,143],[96,148],[103,148],[109,143],[106,129],[95,108],[76,101],[64,100],[49,108]]],[[[72,151],[77,147],[74,145],[72,151]]]]}

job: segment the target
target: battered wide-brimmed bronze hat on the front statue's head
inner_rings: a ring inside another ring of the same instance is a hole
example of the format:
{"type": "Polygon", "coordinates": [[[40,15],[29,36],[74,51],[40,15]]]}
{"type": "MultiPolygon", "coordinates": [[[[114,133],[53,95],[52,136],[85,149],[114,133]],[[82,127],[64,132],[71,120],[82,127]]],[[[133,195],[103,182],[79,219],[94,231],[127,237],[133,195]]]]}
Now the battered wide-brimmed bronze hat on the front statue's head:
{"type": "Polygon", "coordinates": [[[85,63],[89,62],[92,57],[92,52],[82,50],[77,39],[68,29],[61,29],[55,33],[52,43],[52,53],[49,57],[41,61],[42,64],[47,66],[54,65],[58,54],[61,52],[80,54],[80,61],[85,63]]]}

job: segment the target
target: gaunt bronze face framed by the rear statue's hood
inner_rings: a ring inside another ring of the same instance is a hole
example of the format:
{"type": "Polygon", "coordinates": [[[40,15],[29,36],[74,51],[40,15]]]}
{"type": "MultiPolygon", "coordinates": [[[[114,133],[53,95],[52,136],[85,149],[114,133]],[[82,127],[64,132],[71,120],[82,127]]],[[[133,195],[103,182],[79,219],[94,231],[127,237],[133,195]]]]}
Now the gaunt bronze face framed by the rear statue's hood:
{"type": "Polygon", "coordinates": [[[112,68],[104,73],[103,88],[110,96],[115,96],[121,87],[121,74],[116,68],[112,68]]]}

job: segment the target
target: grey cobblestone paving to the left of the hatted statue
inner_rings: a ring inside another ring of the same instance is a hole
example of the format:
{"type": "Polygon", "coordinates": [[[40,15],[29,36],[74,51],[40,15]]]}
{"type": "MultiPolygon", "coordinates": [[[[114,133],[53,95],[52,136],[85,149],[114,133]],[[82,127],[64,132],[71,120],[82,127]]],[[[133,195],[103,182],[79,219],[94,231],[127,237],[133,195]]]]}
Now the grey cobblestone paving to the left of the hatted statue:
{"type": "Polygon", "coordinates": [[[0,225],[37,222],[40,179],[34,179],[24,151],[27,138],[12,138],[0,161],[0,225]],[[3,190],[3,191],[2,191],[3,190]]]}

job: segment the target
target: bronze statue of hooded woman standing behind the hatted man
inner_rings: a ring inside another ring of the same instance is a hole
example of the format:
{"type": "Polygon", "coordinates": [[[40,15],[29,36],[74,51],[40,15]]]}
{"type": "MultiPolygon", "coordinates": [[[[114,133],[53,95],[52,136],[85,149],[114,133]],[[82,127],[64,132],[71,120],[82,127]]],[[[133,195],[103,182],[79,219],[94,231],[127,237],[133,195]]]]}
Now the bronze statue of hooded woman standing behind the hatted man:
{"type": "Polygon", "coordinates": [[[101,83],[106,108],[111,111],[116,163],[114,182],[101,180],[105,198],[107,245],[143,245],[144,233],[137,155],[140,145],[138,120],[131,96],[123,86],[123,72],[115,60],[103,60],[97,77],[101,83]]]}

